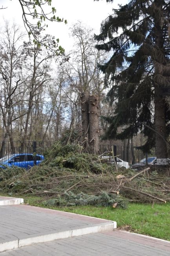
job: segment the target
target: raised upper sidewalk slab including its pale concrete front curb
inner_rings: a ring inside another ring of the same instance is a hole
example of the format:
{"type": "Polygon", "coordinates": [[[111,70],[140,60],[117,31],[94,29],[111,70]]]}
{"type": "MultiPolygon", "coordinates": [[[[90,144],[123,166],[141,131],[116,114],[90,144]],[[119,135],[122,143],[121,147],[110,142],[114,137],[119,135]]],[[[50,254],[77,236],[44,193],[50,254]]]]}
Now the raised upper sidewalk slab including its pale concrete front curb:
{"type": "Polygon", "coordinates": [[[33,243],[113,230],[116,223],[27,205],[0,206],[0,252],[33,243]]]}

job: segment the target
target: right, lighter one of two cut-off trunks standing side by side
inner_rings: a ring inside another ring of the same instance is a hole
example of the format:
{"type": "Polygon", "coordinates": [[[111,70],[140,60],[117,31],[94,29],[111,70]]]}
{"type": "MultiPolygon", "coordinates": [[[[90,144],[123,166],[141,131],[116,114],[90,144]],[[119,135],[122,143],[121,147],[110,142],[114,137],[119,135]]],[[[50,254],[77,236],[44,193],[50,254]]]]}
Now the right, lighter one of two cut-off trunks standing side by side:
{"type": "Polygon", "coordinates": [[[89,96],[89,146],[90,153],[99,152],[99,106],[98,96],[89,96]]]}

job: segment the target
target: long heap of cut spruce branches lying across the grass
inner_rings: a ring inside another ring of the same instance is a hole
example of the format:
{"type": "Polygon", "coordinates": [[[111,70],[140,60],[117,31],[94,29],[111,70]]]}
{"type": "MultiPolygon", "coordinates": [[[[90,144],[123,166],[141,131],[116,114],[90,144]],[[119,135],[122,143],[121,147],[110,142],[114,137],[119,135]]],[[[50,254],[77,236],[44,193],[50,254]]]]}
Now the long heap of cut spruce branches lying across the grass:
{"type": "Polygon", "coordinates": [[[28,171],[18,167],[2,170],[0,193],[45,196],[47,201],[58,205],[125,207],[126,199],[170,201],[170,175],[169,170],[155,167],[139,173],[117,169],[97,155],[83,153],[79,144],[67,142],[63,146],[58,142],[45,153],[45,161],[40,165],[28,171]]]}

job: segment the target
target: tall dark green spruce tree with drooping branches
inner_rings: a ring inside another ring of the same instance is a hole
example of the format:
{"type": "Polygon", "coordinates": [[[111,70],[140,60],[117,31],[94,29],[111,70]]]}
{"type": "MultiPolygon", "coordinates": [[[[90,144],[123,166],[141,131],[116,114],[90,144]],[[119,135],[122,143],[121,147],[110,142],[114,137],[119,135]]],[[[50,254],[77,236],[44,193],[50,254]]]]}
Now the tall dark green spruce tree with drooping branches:
{"type": "MultiPolygon", "coordinates": [[[[113,2],[113,0],[106,0],[113,2]]],[[[115,112],[106,136],[124,139],[143,131],[143,150],[155,147],[157,164],[167,161],[170,134],[170,0],[130,0],[113,9],[95,36],[112,53],[101,65],[115,112]],[[125,127],[121,133],[118,127],[125,127]]]]}

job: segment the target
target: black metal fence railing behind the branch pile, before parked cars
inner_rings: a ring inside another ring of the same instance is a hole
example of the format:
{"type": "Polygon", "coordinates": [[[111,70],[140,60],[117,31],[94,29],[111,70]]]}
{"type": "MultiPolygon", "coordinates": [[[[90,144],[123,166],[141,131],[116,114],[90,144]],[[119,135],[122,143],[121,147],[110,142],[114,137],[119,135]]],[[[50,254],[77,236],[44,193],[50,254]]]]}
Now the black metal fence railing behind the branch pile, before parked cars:
{"type": "MultiPolygon", "coordinates": [[[[6,160],[9,156],[16,156],[16,154],[40,154],[43,155],[51,145],[53,141],[0,141],[0,159],[4,158],[6,160]]],[[[145,161],[146,164],[149,164],[151,158],[155,157],[155,150],[153,149],[151,153],[144,153],[142,150],[135,147],[122,147],[117,145],[99,145],[99,154],[103,158],[108,158],[108,161],[112,162],[113,160],[117,162],[117,165],[122,165],[126,168],[133,165],[134,163],[145,161]],[[113,149],[113,155],[117,156],[115,160],[113,156],[109,154],[113,149]],[[121,163],[122,162],[122,163],[121,163]],[[123,163],[124,162],[124,163],[123,163]]],[[[29,158],[27,156],[27,158],[29,158]]]]}

